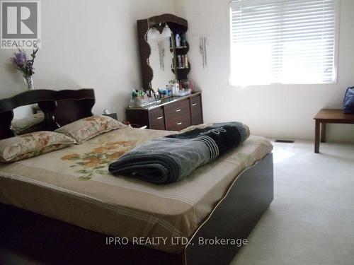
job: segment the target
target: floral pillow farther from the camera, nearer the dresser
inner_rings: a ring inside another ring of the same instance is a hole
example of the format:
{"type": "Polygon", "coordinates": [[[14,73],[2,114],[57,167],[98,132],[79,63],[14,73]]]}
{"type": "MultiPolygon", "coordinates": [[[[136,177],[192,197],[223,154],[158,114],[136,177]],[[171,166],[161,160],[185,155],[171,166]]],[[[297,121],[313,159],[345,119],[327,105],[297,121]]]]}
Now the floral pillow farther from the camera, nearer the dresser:
{"type": "Polygon", "coordinates": [[[91,117],[79,119],[76,122],[62,126],[55,131],[72,137],[77,144],[80,144],[107,131],[125,127],[126,125],[112,119],[111,117],[93,115],[91,117]]]}

